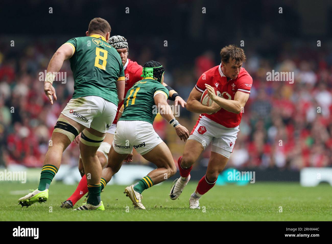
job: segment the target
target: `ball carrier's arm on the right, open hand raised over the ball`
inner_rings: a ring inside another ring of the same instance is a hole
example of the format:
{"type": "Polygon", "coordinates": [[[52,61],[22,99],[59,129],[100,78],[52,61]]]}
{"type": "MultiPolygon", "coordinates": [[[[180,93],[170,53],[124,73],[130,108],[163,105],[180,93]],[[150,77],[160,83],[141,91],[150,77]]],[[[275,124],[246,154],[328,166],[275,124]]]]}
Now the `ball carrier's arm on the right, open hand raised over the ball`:
{"type": "Polygon", "coordinates": [[[227,100],[216,96],[214,89],[211,86],[206,84],[205,87],[208,89],[208,94],[212,101],[214,101],[224,110],[235,114],[241,113],[241,110],[244,108],[244,105],[249,98],[249,94],[237,91],[235,93],[234,100],[227,100]]]}

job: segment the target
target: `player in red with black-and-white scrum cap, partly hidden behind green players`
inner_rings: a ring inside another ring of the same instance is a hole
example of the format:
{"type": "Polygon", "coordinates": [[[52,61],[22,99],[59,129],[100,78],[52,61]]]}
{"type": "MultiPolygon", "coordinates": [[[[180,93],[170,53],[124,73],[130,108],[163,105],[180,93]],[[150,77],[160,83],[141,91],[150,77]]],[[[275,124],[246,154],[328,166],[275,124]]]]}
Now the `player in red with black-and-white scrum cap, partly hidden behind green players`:
{"type": "MultiPolygon", "coordinates": [[[[133,86],[137,81],[141,80],[142,77],[142,70],[143,67],[139,65],[137,62],[134,62],[128,58],[128,42],[127,40],[122,36],[113,36],[110,37],[109,44],[116,48],[118,53],[120,54],[122,64],[124,66],[124,76],[125,76],[125,86],[124,86],[124,95],[127,94],[129,88],[133,86]]],[[[169,90],[169,100],[175,101],[175,106],[180,104],[183,108],[186,107],[186,102],[176,93],[176,91],[173,90],[170,86],[163,83],[163,85],[169,90]]],[[[102,165],[102,168],[105,168],[107,161],[108,161],[108,153],[110,151],[114,134],[115,134],[115,128],[117,125],[117,118],[119,114],[119,110],[121,106],[123,105],[123,101],[119,103],[118,105],[118,112],[117,115],[113,121],[113,123],[110,125],[109,130],[106,133],[106,137],[103,141],[103,143],[100,145],[100,147],[97,150],[97,156],[98,159],[102,165]]],[[[78,143],[80,140],[80,135],[77,136],[74,140],[74,143],[78,143]]],[[[132,161],[132,153],[128,155],[128,157],[124,160],[125,162],[131,162],[132,161]]],[[[61,207],[64,208],[72,208],[75,203],[80,200],[87,192],[87,179],[84,173],[83,163],[80,156],[79,163],[78,163],[78,169],[80,171],[80,174],[82,176],[81,181],[79,182],[75,192],[63,203],[61,203],[61,207]]],[[[102,189],[104,189],[106,185],[106,181],[104,178],[101,178],[100,183],[102,184],[102,189]]]]}

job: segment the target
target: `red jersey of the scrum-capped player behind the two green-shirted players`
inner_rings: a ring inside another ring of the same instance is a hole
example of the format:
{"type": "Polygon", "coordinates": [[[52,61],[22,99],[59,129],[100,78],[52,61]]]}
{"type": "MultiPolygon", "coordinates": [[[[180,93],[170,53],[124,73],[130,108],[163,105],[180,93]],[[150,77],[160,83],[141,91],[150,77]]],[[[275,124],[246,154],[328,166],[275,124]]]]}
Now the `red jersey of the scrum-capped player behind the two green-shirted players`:
{"type": "MultiPolygon", "coordinates": [[[[124,85],[124,96],[127,94],[128,90],[139,80],[142,79],[141,74],[143,67],[140,66],[137,62],[127,59],[126,64],[124,65],[124,76],[125,76],[125,85],[124,85]]],[[[117,115],[113,121],[114,124],[117,123],[118,114],[121,106],[124,104],[124,101],[119,104],[117,115]]]]}

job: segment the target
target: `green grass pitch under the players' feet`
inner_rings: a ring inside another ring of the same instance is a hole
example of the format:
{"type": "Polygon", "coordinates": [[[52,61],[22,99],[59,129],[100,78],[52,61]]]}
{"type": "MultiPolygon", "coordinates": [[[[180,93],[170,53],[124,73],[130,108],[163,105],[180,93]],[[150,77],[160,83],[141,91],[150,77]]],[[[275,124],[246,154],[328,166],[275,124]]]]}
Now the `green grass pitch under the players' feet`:
{"type": "MultiPolygon", "coordinates": [[[[102,193],[105,211],[72,211],[60,208],[76,186],[51,184],[46,203],[21,207],[17,200],[37,183],[0,184],[0,221],[331,221],[332,188],[298,183],[260,183],[246,186],[214,186],[200,200],[201,209],[189,209],[189,197],[197,182],[190,182],[179,199],[169,198],[171,181],[143,192],[146,210],[134,209],[125,197],[126,186],[106,186],[102,193]],[[50,208],[51,207],[51,208],[50,208]],[[282,212],[279,210],[282,207],[282,212]]],[[[81,199],[75,204],[79,206],[81,199]],[[79,204],[79,205],[78,205],[79,204]]]]}

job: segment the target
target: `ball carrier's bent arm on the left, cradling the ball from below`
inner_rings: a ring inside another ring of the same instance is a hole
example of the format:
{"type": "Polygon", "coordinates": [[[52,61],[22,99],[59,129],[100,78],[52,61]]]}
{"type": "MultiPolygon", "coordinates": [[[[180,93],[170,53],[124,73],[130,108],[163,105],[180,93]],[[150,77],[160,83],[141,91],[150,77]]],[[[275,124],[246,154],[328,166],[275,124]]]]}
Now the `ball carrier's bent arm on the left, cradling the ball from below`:
{"type": "Polygon", "coordinates": [[[194,87],[187,101],[187,110],[198,114],[215,113],[220,110],[221,107],[216,103],[212,103],[210,107],[201,104],[201,96],[202,93],[194,87]]]}

